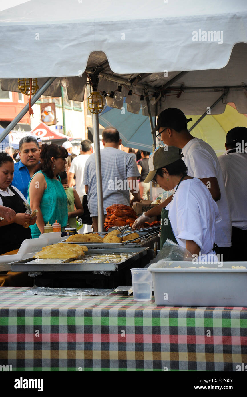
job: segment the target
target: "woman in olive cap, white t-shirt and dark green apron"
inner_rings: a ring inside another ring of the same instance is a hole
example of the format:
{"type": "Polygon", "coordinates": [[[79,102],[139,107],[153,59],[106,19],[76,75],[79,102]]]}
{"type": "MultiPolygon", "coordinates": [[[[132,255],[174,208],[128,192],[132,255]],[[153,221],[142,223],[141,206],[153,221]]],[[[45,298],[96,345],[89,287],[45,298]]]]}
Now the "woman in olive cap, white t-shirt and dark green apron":
{"type": "Polygon", "coordinates": [[[165,146],[149,158],[145,183],[153,181],[166,191],[175,190],[172,201],[162,209],[160,247],[171,239],[191,254],[212,255],[215,224],[221,221],[218,206],[204,183],[187,175],[182,157],[181,149],[165,146]]]}

